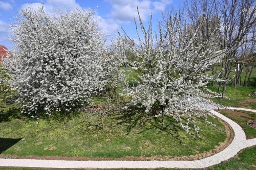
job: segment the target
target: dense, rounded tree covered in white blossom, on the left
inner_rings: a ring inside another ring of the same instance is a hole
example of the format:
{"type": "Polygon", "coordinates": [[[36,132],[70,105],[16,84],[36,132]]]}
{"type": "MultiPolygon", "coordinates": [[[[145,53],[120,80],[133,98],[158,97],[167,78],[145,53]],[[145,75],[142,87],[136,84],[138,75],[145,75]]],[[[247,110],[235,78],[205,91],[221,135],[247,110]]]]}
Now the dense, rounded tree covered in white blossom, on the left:
{"type": "Polygon", "coordinates": [[[48,15],[20,11],[13,25],[16,49],[5,64],[23,112],[66,112],[102,90],[102,34],[94,11],[48,15]]]}

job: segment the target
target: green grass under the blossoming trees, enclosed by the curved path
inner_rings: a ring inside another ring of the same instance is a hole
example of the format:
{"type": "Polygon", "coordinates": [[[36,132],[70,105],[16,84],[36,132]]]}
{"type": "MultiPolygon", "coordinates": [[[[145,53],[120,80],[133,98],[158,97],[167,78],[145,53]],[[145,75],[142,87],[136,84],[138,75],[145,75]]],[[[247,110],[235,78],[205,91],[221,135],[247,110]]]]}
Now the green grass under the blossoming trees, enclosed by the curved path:
{"type": "MultiPolygon", "coordinates": [[[[127,120],[131,119],[127,117],[127,120]]],[[[0,138],[22,138],[2,153],[18,156],[117,158],[195,155],[214,149],[226,138],[224,126],[217,119],[210,120],[218,128],[199,121],[202,131],[200,137],[194,138],[181,130],[177,134],[161,130],[154,121],[142,128],[135,125],[130,129],[129,123],[120,124],[120,115],[105,118],[105,131],[100,128],[99,117],[92,114],[78,114],[59,122],[13,118],[0,123],[0,138]]],[[[0,150],[6,144],[2,141],[0,150]]]]}

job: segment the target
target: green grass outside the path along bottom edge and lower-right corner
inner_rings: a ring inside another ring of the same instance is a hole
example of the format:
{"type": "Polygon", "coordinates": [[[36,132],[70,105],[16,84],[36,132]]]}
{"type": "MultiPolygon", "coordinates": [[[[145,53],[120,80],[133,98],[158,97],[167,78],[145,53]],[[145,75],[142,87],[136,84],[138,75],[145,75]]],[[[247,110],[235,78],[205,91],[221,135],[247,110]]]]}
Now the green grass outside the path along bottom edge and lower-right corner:
{"type": "MultiPolygon", "coordinates": [[[[53,168],[25,168],[25,167],[0,167],[0,170],[32,170],[32,169],[51,169],[53,168]]],[[[67,168],[66,168],[67,169],[67,168]]],[[[123,168],[125,169],[125,168],[123,168]]],[[[142,169],[142,168],[140,168],[142,169]]],[[[168,168],[157,168],[157,169],[168,169],[168,168]]],[[[221,164],[204,168],[207,170],[255,170],[256,169],[256,147],[247,148],[237,157],[231,158],[230,160],[223,162],[221,164]]],[[[127,169],[130,170],[130,169],[127,169]]],[[[147,169],[144,169],[147,170],[147,169]]],[[[175,170],[175,169],[169,169],[175,170]]],[[[188,169],[183,169],[188,170],[188,169]]],[[[196,169],[195,169],[196,170],[196,169]]],[[[200,169],[197,169],[200,170],[200,169]]]]}

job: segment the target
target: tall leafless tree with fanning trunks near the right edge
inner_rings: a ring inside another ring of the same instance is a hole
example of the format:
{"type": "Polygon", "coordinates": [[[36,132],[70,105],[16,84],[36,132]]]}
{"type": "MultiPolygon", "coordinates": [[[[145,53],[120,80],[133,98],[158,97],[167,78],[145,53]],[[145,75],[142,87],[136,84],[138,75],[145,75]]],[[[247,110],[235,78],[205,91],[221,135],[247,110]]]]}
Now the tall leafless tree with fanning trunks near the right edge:
{"type": "MultiPolygon", "coordinates": [[[[220,18],[221,29],[218,33],[219,46],[221,49],[232,48],[222,60],[221,78],[223,84],[222,97],[225,96],[227,82],[232,66],[236,59],[238,48],[248,35],[255,22],[254,0],[212,0],[216,16],[220,18]]],[[[221,83],[219,84],[219,92],[221,83]]]]}

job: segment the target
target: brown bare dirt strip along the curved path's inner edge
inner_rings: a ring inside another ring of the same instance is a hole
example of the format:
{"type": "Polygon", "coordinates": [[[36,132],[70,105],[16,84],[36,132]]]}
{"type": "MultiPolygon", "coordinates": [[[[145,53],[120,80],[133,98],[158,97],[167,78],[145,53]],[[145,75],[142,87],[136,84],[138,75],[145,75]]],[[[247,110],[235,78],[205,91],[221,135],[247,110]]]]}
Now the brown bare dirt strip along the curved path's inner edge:
{"type": "MultiPolygon", "coordinates": [[[[135,157],[135,156],[126,156],[120,158],[89,158],[89,157],[66,157],[66,156],[35,156],[35,155],[28,155],[28,156],[16,156],[16,155],[4,155],[0,154],[0,158],[15,158],[15,159],[47,159],[47,160],[198,160],[202,158],[209,157],[216,153],[221,152],[224,150],[233,140],[234,132],[232,131],[231,127],[220,119],[220,122],[225,126],[227,138],[224,142],[220,142],[219,145],[215,147],[215,149],[210,150],[205,153],[197,154],[197,155],[189,155],[189,156],[180,156],[180,157],[173,157],[173,156],[151,156],[151,157],[135,157]]],[[[149,144],[149,143],[145,143],[149,144]]],[[[51,146],[52,147],[52,146],[51,146]]],[[[54,146],[53,146],[54,147],[54,146]]],[[[49,148],[47,148],[50,150],[49,148]]],[[[130,150],[130,147],[126,148],[130,150]]]]}

